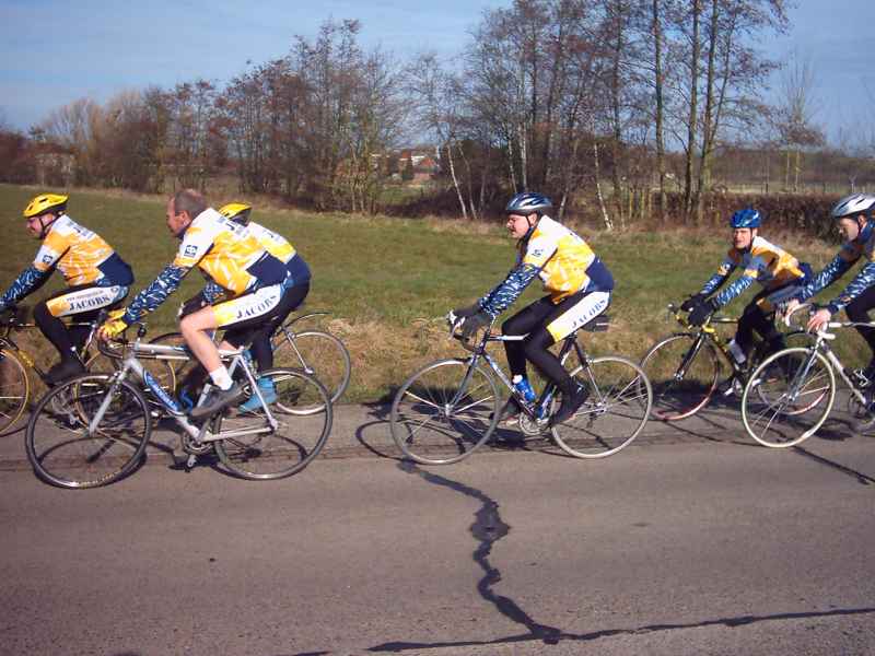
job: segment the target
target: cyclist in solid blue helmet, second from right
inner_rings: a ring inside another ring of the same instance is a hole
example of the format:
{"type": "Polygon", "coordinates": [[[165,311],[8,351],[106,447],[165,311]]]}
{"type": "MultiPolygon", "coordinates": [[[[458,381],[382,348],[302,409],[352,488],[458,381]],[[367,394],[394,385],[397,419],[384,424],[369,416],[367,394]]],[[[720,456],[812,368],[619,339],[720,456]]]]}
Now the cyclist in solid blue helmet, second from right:
{"type": "Polygon", "coordinates": [[[690,324],[701,326],[716,309],[728,304],[755,281],[762,285],[762,290],[745,306],[735,338],[730,342],[730,350],[738,364],[747,360],[747,353],[754,345],[754,330],[766,340],[769,350],[784,348],[783,335],[774,325],[774,311],[796,294],[810,276],[807,263],[800,262],[780,246],[759,236],[761,224],[760,213],[752,208],[735,212],[730,219],[732,248],[701,291],[680,305],[681,309],[690,313],[690,324]],[[742,276],[712,295],[736,268],[742,269],[742,276]]]}

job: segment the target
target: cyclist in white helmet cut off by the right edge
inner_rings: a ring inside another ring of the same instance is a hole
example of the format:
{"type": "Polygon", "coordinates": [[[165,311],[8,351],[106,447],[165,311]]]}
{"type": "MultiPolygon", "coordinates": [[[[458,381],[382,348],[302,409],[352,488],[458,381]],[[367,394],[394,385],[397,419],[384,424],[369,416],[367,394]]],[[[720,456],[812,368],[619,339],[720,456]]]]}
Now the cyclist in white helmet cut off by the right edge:
{"type": "MultiPolygon", "coordinates": [[[[844,237],[844,244],[838,255],[824,270],[813,278],[800,293],[788,304],[792,311],[798,303],[810,298],[820,290],[841,278],[861,258],[865,262],[854,279],[844,290],[826,306],[819,308],[808,320],[808,330],[816,331],[830,321],[832,315],[841,309],[848,318],[856,323],[867,323],[868,311],[875,307],[875,196],[870,194],[852,194],[845,196],[830,212],[844,237]]],[[[856,370],[854,376],[861,387],[872,387],[875,383],[875,329],[855,326],[856,331],[866,340],[872,350],[872,359],[863,370],[856,370]]]]}

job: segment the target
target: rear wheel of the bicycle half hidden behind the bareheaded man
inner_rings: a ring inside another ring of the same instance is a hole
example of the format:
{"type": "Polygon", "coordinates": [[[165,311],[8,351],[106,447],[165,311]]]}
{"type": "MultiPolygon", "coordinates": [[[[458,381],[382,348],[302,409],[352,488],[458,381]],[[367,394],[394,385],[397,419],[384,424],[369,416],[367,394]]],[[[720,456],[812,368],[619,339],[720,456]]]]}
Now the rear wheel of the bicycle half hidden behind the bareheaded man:
{"type": "Polygon", "coordinates": [[[332,403],[343,396],[352,366],[340,339],[320,330],[287,335],[280,328],[273,335],[272,347],[275,366],[302,368],[313,374],[325,385],[332,403]]]}

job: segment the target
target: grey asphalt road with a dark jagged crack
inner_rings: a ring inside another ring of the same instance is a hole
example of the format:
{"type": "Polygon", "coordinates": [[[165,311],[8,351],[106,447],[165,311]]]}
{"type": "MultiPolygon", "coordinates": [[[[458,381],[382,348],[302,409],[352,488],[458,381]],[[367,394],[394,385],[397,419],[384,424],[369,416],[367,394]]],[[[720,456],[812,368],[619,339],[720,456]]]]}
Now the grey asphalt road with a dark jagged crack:
{"type": "MultiPolygon", "coordinates": [[[[752,446],[732,408],[579,461],[399,462],[382,408],[269,483],[56,490],[0,437],[2,654],[875,654],[875,438],[752,446]]],[[[167,437],[167,444],[171,444],[167,437]]]]}

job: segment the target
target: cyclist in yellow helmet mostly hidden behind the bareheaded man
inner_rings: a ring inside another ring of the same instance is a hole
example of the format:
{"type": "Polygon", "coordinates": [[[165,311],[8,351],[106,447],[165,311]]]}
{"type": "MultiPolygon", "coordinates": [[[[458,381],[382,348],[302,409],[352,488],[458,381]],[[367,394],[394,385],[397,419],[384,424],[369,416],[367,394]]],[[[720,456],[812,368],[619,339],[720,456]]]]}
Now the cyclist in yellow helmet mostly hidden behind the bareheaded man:
{"type": "MultiPolygon", "coordinates": [[[[264,321],[252,336],[250,352],[258,366],[259,372],[265,372],[273,366],[273,349],[270,345],[270,338],[273,331],[285,320],[291,312],[296,309],[306,298],[310,292],[310,267],[301,254],[295,250],[288,239],[282,235],[266,229],[264,225],[249,219],[252,206],[232,202],[219,209],[219,213],[225,219],[247,226],[247,230],[255,235],[258,243],[273,257],[285,265],[289,276],[282,283],[288,295],[288,301],[283,303],[283,312],[271,316],[264,321]]],[[[273,388],[273,380],[266,376],[258,378],[258,387],[265,402],[272,403],[277,400],[277,391],[273,388]]],[[[258,410],[261,401],[253,395],[247,401],[240,406],[241,412],[252,412],[258,410]]]]}

